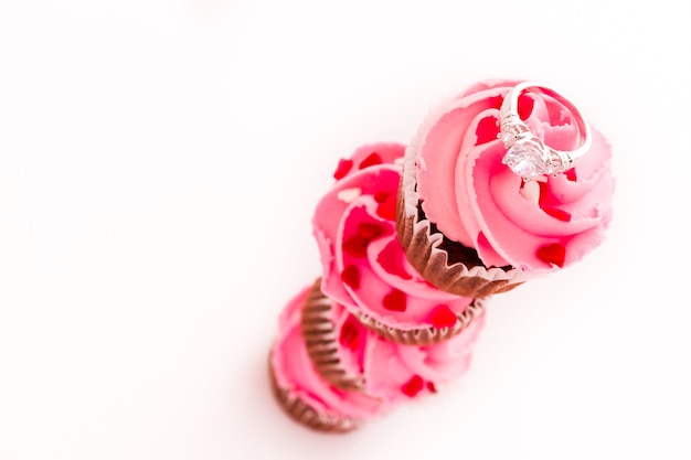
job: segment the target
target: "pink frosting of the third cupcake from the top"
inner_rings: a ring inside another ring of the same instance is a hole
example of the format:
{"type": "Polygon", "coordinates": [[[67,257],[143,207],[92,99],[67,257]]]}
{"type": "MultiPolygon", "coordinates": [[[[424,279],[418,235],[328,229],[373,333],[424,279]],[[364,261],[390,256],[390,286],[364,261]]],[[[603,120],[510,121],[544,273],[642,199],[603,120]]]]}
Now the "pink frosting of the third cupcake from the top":
{"type": "Polygon", "coordinates": [[[364,377],[363,391],[391,403],[435,392],[466,373],[471,347],[482,329],[485,314],[466,330],[429,346],[402,345],[386,341],[361,325],[346,308],[333,304],[332,321],[339,338],[341,365],[350,375],[364,377]]]}

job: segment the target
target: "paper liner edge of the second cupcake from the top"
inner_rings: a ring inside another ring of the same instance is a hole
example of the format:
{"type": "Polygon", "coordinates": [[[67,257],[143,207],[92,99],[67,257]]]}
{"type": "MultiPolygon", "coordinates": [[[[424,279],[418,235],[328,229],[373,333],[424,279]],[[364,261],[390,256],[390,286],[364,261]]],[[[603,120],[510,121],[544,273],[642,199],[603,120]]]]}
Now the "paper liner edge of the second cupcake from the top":
{"type": "Polygon", "coordinates": [[[384,339],[403,345],[428,346],[449,340],[464,331],[476,318],[482,314],[485,302],[475,299],[463,313],[457,314],[458,321],[450,328],[422,328],[403,331],[373,319],[365,313],[355,313],[360,322],[369,330],[384,339]]]}

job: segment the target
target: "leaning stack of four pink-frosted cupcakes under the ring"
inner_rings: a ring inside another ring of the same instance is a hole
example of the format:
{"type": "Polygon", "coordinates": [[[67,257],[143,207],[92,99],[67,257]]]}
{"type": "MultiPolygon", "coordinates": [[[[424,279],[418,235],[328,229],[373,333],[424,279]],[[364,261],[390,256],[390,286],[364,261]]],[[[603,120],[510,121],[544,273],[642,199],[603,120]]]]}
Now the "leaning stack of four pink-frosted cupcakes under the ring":
{"type": "MultiPolygon", "coordinates": [[[[407,148],[340,160],[313,234],[322,272],[291,299],[272,386],[300,424],[344,432],[435,394],[468,370],[489,298],[572,265],[612,220],[610,147],[595,129],[576,167],[530,181],[502,162],[500,108],[518,82],[478,83],[433,110],[407,148]]],[[[582,127],[549,94],[521,120],[573,150],[582,127]]]]}

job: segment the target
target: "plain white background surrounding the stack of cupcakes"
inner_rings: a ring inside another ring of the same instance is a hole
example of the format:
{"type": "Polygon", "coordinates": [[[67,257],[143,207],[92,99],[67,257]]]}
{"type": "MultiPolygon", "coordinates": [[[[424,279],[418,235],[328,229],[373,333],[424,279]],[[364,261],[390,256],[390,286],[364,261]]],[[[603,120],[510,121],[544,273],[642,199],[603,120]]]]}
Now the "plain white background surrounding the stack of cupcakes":
{"type": "Polygon", "coordinates": [[[2,1],[0,459],[691,457],[683,4],[2,1]],[[496,297],[439,395],[295,425],[266,355],[338,159],[488,77],[610,138],[607,243],[496,297]]]}

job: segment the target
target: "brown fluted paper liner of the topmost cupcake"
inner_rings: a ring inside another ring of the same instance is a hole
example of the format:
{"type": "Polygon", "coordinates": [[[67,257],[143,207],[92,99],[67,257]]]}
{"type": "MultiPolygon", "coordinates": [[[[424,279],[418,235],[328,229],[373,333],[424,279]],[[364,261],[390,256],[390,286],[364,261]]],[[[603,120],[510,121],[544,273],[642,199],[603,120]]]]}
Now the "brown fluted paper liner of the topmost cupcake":
{"type": "Polygon", "coordinates": [[[417,272],[437,288],[463,297],[485,298],[509,291],[531,278],[518,268],[470,265],[450,261],[443,247],[449,242],[422,214],[415,179],[415,151],[419,139],[405,153],[398,199],[396,203],[396,233],[398,242],[417,272]]]}

